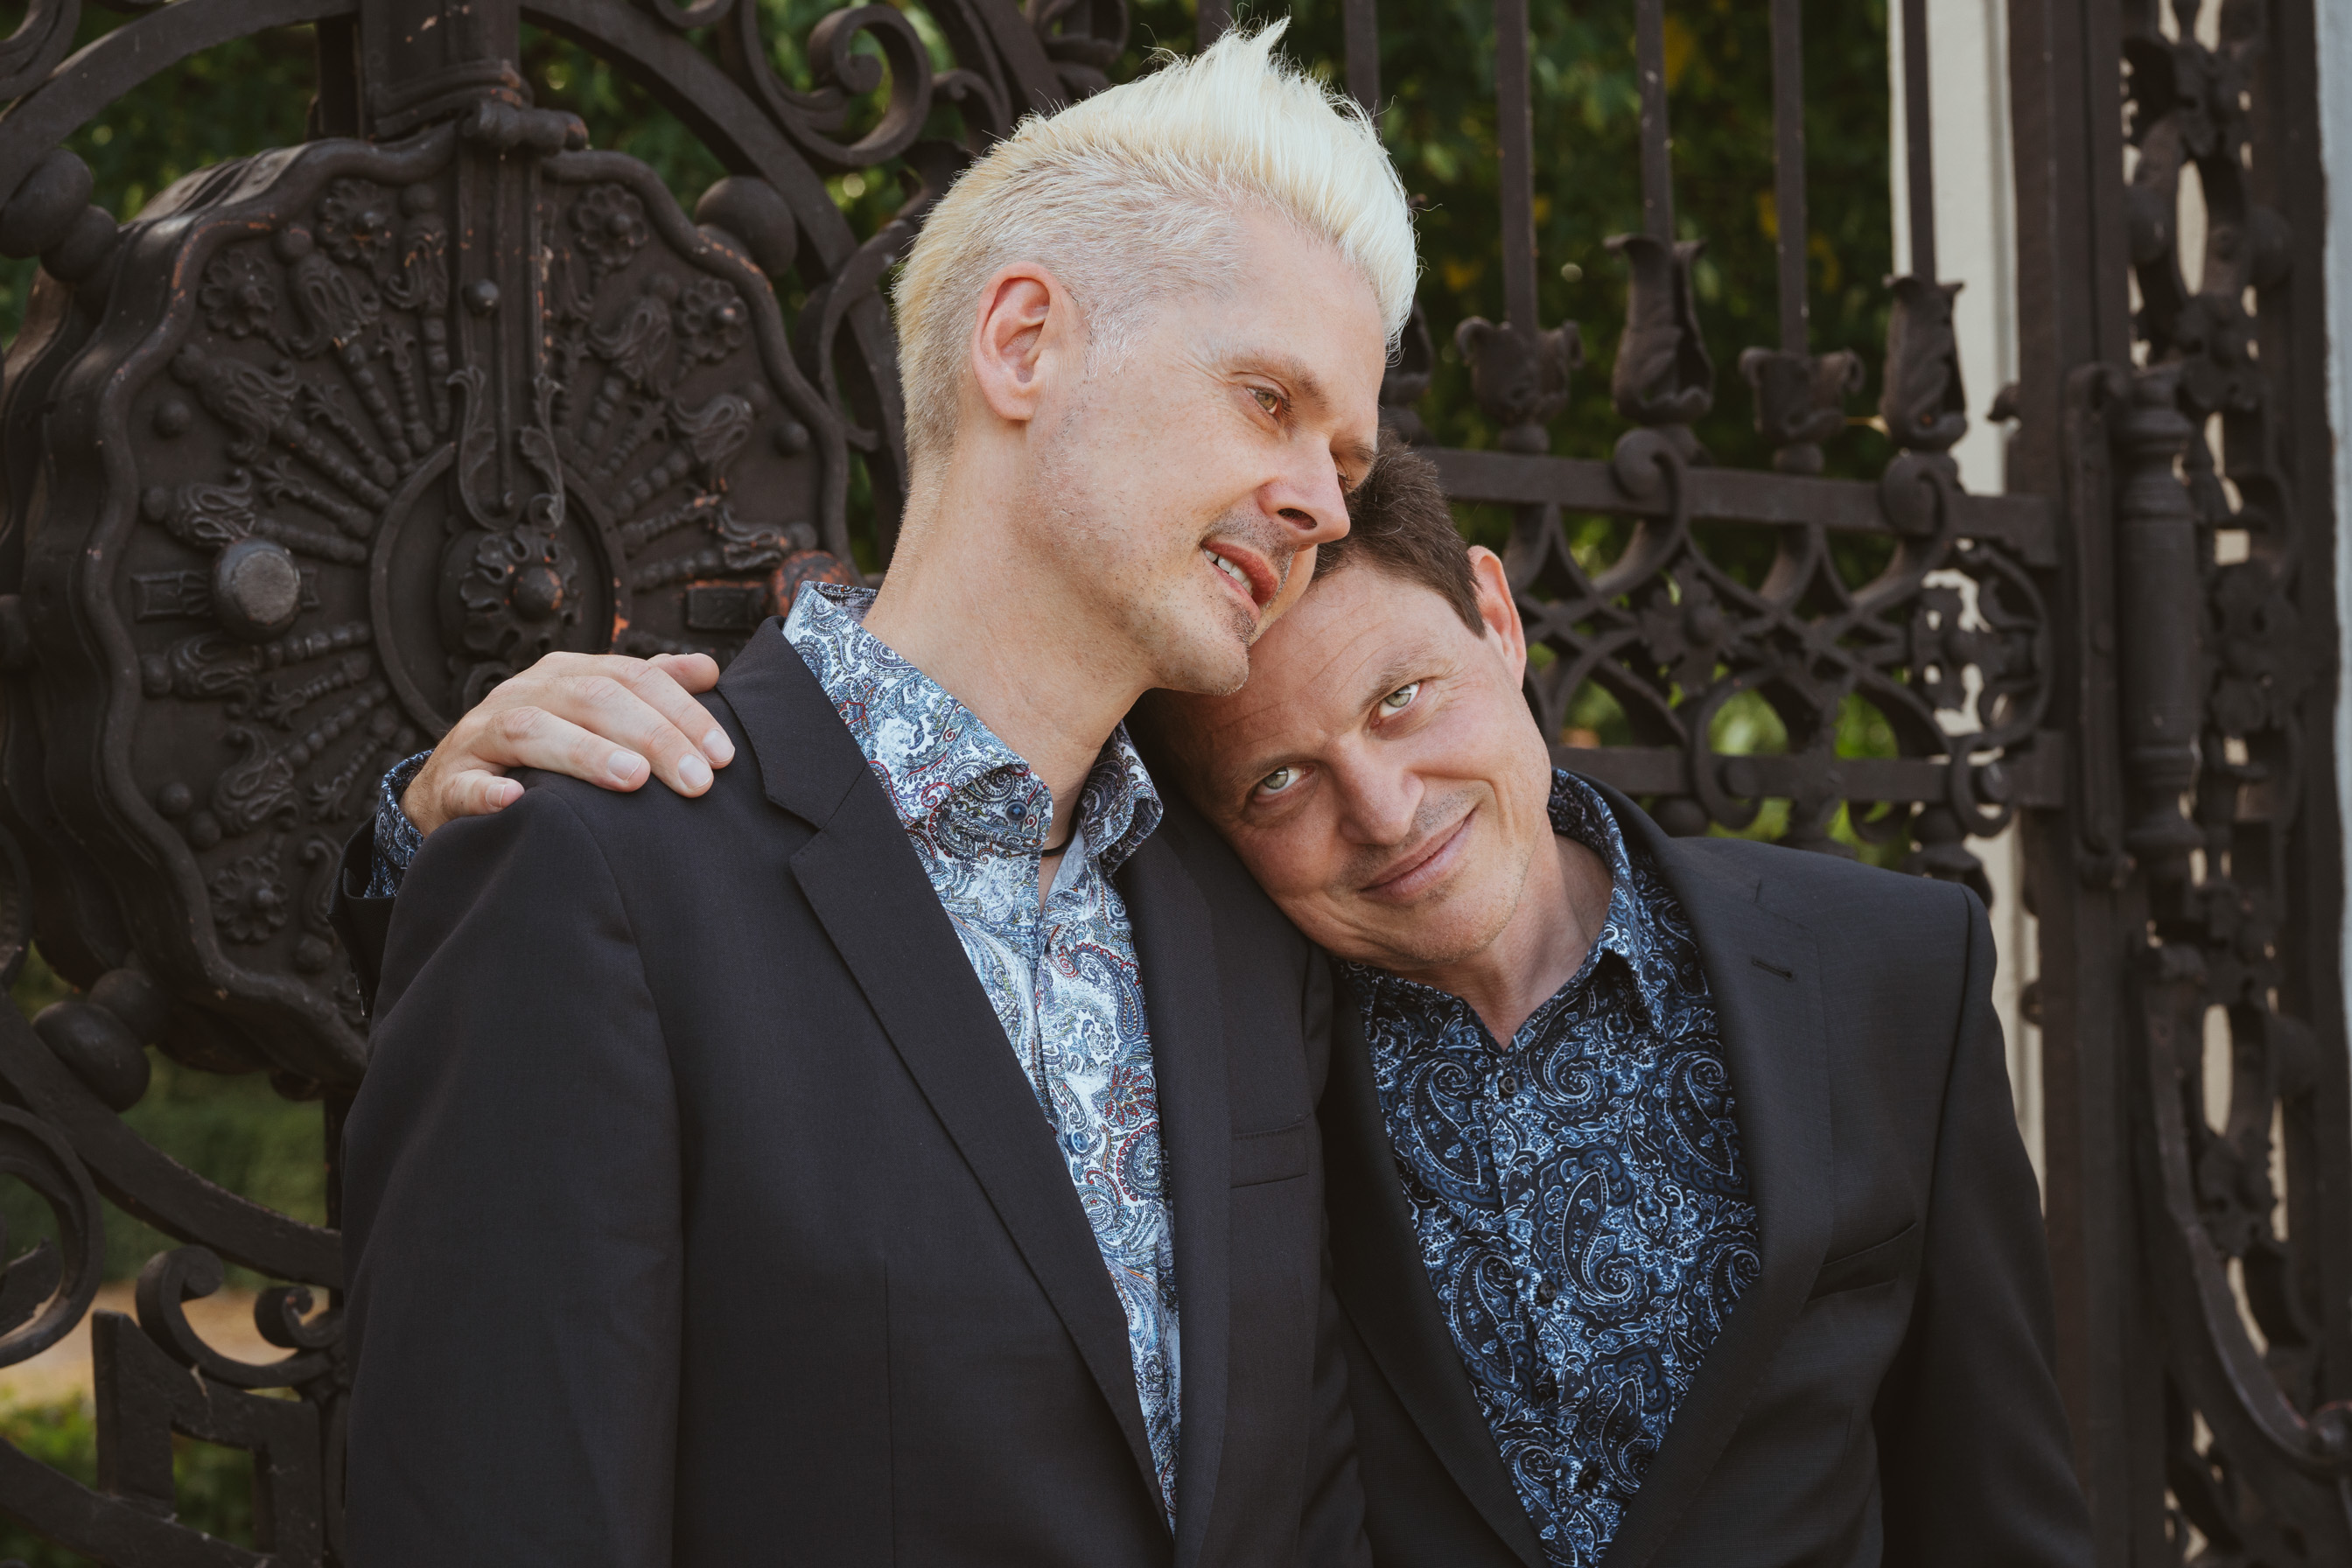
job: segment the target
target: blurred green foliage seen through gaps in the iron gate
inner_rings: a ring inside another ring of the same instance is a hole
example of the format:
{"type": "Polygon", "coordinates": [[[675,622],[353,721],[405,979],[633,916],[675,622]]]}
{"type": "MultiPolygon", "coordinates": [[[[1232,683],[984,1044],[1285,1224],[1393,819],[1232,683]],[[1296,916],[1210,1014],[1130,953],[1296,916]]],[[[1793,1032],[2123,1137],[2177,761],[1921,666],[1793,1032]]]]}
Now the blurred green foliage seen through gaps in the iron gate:
{"type": "MultiPolygon", "coordinates": [[[[746,0],[767,14],[776,66],[809,85],[802,40],[833,9],[826,0],[746,0]]],[[[1432,435],[1454,447],[1484,447],[1489,421],[1470,402],[1468,369],[1454,350],[1454,329],[1470,315],[1501,320],[1503,280],[1496,266],[1496,110],[1494,9],[1475,0],[1423,0],[1383,7],[1381,132],[1406,188],[1421,197],[1423,287],[1430,336],[1437,343],[1435,386],[1421,404],[1432,435]]],[[[1258,14],[1282,14],[1258,9],[1258,14]]],[[[1324,80],[1343,80],[1338,0],[1298,0],[1289,9],[1289,52],[1324,80]]],[[[1806,139],[1811,223],[1813,348],[1856,348],[1872,367],[1886,331],[1882,277],[1891,266],[1889,209],[1889,82],[1884,0],[1809,0],[1806,14],[1806,139]]],[[[927,33],[929,21],[915,12],[927,33]]],[[[85,9],[82,42],[120,26],[122,16],[85,9]]],[[[1609,364],[1623,331],[1625,268],[1604,240],[1639,226],[1639,162],[1632,54],[1632,0],[1531,0],[1534,118],[1536,118],[1536,237],[1541,324],[1578,322],[1588,369],[1576,378],[1569,411],[1552,425],[1552,449],[1564,456],[1606,456],[1628,428],[1609,404],[1609,364]]],[[[1138,0],[1131,45],[1112,68],[1115,80],[1138,73],[1155,47],[1185,52],[1195,40],[1190,0],[1138,0]]],[[[870,45],[861,45],[870,47],[870,45]]],[[[186,61],[113,103],[82,127],[71,148],[96,174],[96,200],[115,216],[136,216],[172,181],[226,158],[299,141],[310,96],[310,35],[303,28],[240,40],[186,61]]],[[[946,59],[946,49],[938,49],[946,59]]],[[[724,169],[682,125],[619,68],[576,45],[532,31],[524,75],[543,103],[576,110],[595,146],[649,162],[691,209],[724,169]]],[[[1684,237],[1708,252],[1696,268],[1698,313],[1717,360],[1715,411],[1698,435],[1724,463],[1766,465],[1769,449],[1755,433],[1748,388],[1733,374],[1738,350],[1778,341],[1773,289],[1773,165],[1771,165],[1771,49],[1766,7],[1755,0],[1677,0],[1668,19],[1668,92],[1675,120],[1675,202],[1684,237]]],[[[856,134],[856,125],[849,134],[856,134]]],[[[943,125],[953,134],[953,127],[943,125]]],[[[868,169],[830,181],[833,195],[858,233],[873,233],[903,200],[894,169],[868,169]]],[[[33,263],[0,263],[0,336],[12,339],[31,289],[33,263]]],[[[800,289],[783,287],[786,320],[800,289]]],[[[1884,437],[1863,421],[1830,444],[1832,475],[1877,475],[1889,456],[1884,437]]],[[[1494,508],[1463,508],[1463,531],[1498,545],[1508,517],[1494,508]]],[[[1571,520],[1585,555],[1616,548],[1604,520],[1571,520]]],[[[1710,552],[1740,574],[1762,574],[1771,541],[1710,538],[1710,552]]],[[[1851,581],[1879,564],[1867,545],[1842,562],[1851,581]]],[[[1623,741],[1623,722],[1606,701],[1578,708],[1576,726],[1590,741],[1623,741]]],[[[1729,752],[1780,750],[1785,736],[1762,701],[1738,701],[1717,722],[1715,743],[1729,752]]],[[[1851,705],[1839,750],[1889,755],[1884,719],[1851,705]]],[[[1778,832],[1783,813],[1750,830],[1778,832]]],[[[1839,818],[1839,835],[1851,839],[1839,818]]],[[[38,954],[16,985],[26,1016],[66,994],[38,954]]],[[[325,1220],[320,1107],[282,1100],[263,1074],[212,1077],[155,1058],[155,1081],[127,1121],[193,1171],[245,1197],[303,1220],[325,1220]]],[[[47,1218],[9,1185],[0,1218],[21,1246],[47,1232],[47,1218]]],[[[108,1211],[108,1274],[127,1279],[169,1241],[129,1215],[108,1211]]],[[[242,1284],[259,1284],[242,1279],[242,1284]]],[[[0,1436],[89,1474],[89,1420],[73,1403],[19,1408],[0,1415],[0,1436]]],[[[230,1537],[249,1537],[242,1455],[191,1450],[183,1455],[183,1509],[230,1537]],[[219,1455],[219,1458],[212,1458],[219,1455]]],[[[0,1559],[16,1554],[33,1568],[68,1563],[66,1554],[0,1526],[0,1559]]]]}

